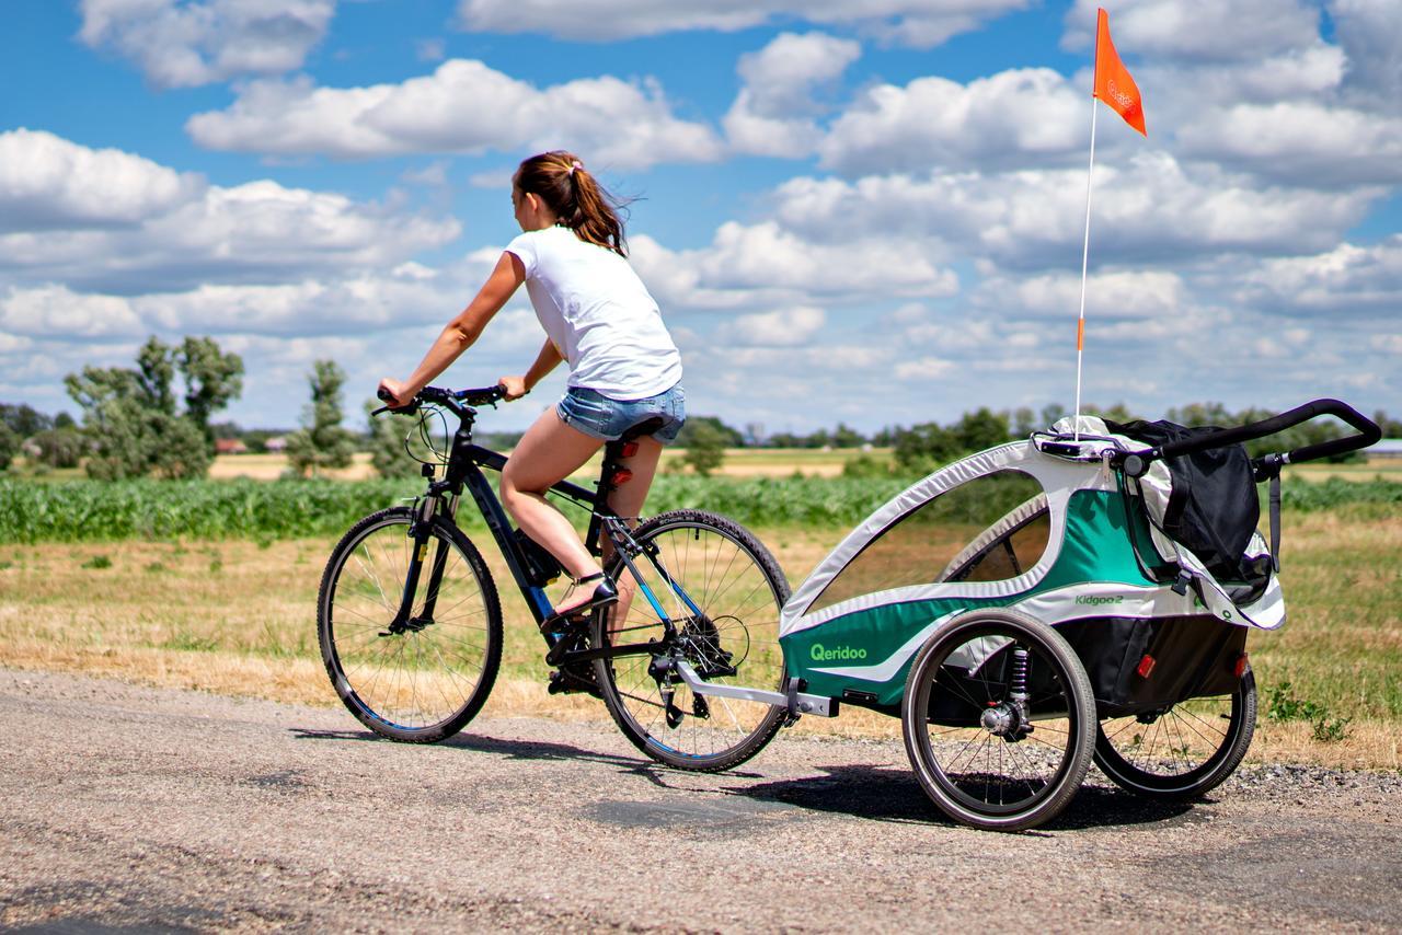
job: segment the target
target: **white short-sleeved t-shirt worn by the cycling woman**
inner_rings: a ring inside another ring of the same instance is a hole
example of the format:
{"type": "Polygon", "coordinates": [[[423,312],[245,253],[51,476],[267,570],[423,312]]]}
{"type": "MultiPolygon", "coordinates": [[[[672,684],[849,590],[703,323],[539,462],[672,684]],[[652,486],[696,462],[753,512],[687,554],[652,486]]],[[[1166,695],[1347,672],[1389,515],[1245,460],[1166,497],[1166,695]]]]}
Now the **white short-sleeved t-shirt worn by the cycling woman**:
{"type": "Polygon", "coordinates": [[[536,317],[569,362],[569,385],[644,400],[681,380],[681,355],[627,259],[559,226],[529,230],[506,250],[526,268],[536,317]]]}

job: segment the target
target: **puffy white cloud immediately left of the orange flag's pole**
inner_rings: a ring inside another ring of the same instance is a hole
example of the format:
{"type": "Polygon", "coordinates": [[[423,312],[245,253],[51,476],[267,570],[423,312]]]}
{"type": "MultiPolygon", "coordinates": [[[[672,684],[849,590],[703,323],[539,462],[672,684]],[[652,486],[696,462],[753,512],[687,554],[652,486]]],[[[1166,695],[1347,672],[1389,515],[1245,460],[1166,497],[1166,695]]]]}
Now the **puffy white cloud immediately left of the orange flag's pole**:
{"type": "Polygon", "coordinates": [[[819,153],[824,167],[848,174],[1061,163],[1088,144],[1087,105],[1052,69],[967,86],[941,77],[882,84],[834,121],[819,153]]]}

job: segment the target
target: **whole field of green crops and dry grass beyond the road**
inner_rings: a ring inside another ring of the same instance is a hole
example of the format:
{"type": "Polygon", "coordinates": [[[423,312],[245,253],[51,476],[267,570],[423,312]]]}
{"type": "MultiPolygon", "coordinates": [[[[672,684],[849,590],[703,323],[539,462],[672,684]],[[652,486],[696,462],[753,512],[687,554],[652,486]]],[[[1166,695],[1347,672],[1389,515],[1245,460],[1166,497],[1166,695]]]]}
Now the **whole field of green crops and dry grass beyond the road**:
{"type": "MultiPolygon", "coordinates": [[[[705,506],[754,528],[792,583],[904,481],[659,475],[649,512],[705,506]]],[[[339,533],[418,482],[0,481],[0,664],[335,705],[315,593],[339,533]]],[[[1290,622],[1252,636],[1260,728],[1252,756],[1399,765],[1402,484],[1378,472],[1284,485],[1290,622]]],[[[467,512],[464,510],[464,519],[467,512]]],[[[506,650],[488,712],[606,718],[548,697],[541,642],[485,530],[506,650]]],[[[346,715],[349,719],[349,715],[346,715]]],[[[894,736],[861,711],[803,730],[894,736]]]]}

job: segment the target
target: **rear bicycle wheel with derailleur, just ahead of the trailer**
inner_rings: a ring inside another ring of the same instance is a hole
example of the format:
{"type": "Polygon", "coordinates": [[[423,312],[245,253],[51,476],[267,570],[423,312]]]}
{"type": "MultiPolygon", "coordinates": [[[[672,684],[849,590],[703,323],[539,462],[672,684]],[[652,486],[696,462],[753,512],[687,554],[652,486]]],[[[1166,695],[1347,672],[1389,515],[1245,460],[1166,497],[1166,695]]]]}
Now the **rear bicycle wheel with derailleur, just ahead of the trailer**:
{"type": "Polygon", "coordinates": [[[599,659],[594,674],[614,722],[649,757],[683,770],[718,771],[767,744],[785,709],[698,695],[655,660],[676,653],[702,680],[767,691],[784,687],[780,610],[789,596],[778,562],[749,530],[702,510],[674,510],[634,531],[644,552],[611,572],[620,603],[594,614],[596,646],[653,643],[658,653],[599,659]],[[667,642],[663,618],[676,632],[667,642]]]}

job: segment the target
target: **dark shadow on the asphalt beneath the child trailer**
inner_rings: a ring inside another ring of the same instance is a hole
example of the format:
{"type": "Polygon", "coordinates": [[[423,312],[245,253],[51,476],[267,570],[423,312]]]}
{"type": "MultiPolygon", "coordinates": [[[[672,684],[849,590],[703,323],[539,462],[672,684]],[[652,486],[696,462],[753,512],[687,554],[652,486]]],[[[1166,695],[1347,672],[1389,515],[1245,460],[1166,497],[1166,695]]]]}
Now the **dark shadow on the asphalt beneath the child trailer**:
{"type": "MultiPolygon", "coordinates": [[[[827,775],[733,786],[730,795],[781,802],[815,812],[836,812],[876,821],[952,824],[925,796],[916,777],[889,765],[817,767],[827,775]]],[[[1166,821],[1190,813],[1190,805],[1140,799],[1129,792],[1082,786],[1047,831],[1084,831],[1166,821]]],[[[1032,833],[1035,834],[1035,831],[1032,833]]]]}

